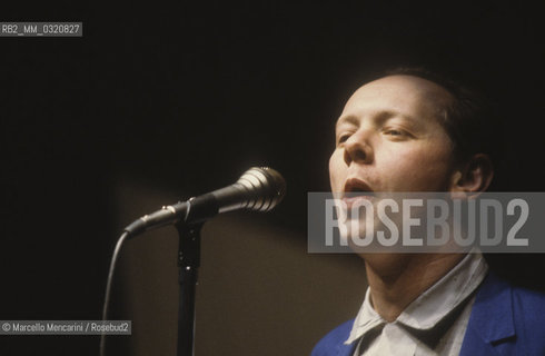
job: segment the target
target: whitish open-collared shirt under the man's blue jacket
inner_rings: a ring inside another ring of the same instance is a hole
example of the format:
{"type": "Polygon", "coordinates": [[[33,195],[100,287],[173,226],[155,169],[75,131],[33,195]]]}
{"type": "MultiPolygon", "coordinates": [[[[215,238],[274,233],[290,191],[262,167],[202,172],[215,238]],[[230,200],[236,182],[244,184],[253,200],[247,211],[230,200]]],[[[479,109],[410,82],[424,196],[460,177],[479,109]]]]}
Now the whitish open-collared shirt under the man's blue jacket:
{"type": "Polygon", "coordinates": [[[375,312],[367,288],[345,344],[359,339],[355,356],[458,355],[475,291],[487,271],[483,255],[472,251],[392,323],[375,312]]]}

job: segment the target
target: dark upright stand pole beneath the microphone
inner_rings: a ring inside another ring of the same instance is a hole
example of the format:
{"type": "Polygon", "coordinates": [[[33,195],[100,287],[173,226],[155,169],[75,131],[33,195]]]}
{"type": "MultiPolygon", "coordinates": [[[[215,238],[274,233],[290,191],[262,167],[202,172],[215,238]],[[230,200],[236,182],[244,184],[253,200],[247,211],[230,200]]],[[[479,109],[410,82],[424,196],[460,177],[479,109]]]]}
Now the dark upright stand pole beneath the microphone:
{"type": "Polygon", "coordinates": [[[195,291],[200,266],[200,229],[204,222],[178,222],[179,309],[177,356],[195,353],[195,291]]]}

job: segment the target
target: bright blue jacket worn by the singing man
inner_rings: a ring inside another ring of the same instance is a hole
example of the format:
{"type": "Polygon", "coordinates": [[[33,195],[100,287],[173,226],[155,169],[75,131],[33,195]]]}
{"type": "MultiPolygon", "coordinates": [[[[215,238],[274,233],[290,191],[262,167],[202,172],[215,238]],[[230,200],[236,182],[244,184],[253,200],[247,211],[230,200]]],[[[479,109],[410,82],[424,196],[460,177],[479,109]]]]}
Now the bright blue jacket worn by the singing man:
{"type": "MultiPolygon", "coordinates": [[[[327,334],[311,356],[351,356],[345,345],[354,320],[327,334]]],[[[477,291],[460,356],[545,356],[545,295],[513,287],[488,274],[477,291]]]]}

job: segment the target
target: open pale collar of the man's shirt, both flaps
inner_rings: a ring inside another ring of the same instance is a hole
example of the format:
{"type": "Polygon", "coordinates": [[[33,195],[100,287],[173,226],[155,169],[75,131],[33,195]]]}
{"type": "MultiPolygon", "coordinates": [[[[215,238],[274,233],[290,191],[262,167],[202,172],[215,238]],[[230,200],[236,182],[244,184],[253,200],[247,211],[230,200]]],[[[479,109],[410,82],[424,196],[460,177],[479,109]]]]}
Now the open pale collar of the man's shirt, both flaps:
{"type": "MultiPolygon", "coordinates": [[[[443,278],[413,300],[393,323],[419,330],[432,329],[477,289],[487,271],[488,265],[480,251],[472,250],[443,278]]],[[[345,344],[351,344],[386,323],[373,308],[370,289],[367,288],[364,304],[345,344]]]]}

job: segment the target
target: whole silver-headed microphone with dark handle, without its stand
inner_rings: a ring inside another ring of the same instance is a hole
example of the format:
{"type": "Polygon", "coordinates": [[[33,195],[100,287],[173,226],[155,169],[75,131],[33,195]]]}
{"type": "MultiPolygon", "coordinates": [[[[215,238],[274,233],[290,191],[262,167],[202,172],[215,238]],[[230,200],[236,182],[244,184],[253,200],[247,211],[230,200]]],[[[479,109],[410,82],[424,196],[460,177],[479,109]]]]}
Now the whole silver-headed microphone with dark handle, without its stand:
{"type": "Polygon", "coordinates": [[[150,215],[145,215],[125,228],[129,237],[160,226],[201,222],[218,214],[249,209],[269,211],[286,194],[283,176],[268,167],[248,169],[234,185],[165,206],[150,215]]]}

